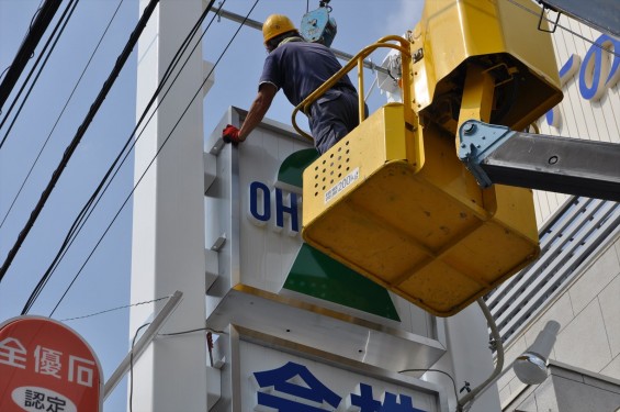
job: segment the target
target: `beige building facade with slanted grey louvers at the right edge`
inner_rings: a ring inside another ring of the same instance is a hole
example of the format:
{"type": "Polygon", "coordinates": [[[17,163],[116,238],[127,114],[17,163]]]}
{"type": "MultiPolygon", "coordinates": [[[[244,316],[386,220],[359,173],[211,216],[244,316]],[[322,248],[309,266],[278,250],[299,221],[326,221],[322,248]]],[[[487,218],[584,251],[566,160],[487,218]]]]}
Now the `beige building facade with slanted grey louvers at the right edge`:
{"type": "MultiPolygon", "coordinates": [[[[539,120],[540,133],[620,144],[620,41],[565,16],[560,25],[553,41],[564,100],[539,120]]],[[[487,299],[505,339],[506,369],[498,380],[501,408],[617,411],[620,205],[541,191],[534,199],[541,259],[487,299]],[[549,378],[540,386],[525,385],[511,363],[550,320],[561,329],[549,378]]]]}

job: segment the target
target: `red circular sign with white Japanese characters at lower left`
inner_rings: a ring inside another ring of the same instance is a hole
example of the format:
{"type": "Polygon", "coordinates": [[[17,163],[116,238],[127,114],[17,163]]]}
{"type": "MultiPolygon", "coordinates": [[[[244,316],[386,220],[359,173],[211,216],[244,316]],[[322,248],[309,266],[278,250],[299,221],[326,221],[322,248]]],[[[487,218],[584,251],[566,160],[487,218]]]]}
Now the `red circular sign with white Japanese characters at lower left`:
{"type": "Polygon", "coordinates": [[[81,336],[47,318],[0,325],[0,411],[101,411],[99,359],[81,336]]]}

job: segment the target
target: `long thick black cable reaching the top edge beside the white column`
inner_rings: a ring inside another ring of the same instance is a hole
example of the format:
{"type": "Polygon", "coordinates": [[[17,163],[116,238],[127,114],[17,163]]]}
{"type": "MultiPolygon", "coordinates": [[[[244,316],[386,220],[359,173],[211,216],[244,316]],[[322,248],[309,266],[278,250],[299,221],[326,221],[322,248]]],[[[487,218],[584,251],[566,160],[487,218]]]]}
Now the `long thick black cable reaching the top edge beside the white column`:
{"type": "Polygon", "coordinates": [[[47,187],[43,191],[41,199],[38,200],[36,207],[32,211],[29,221],[26,222],[22,232],[20,232],[20,235],[18,236],[18,240],[15,241],[11,250],[9,252],[4,263],[2,264],[2,267],[0,267],[0,281],[2,281],[2,278],[7,274],[7,270],[9,269],[9,267],[11,266],[11,263],[13,261],[15,255],[18,254],[18,250],[20,249],[20,247],[24,243],[27,234],[30,233],[32,226],[34,225],[34,222],[36,221],[36,219],[41,214],[41,211],[43,210],[45,202],[49,198],[49,194],[52,194],[52,190],[54,190],[54,187],[56,186],[56,183],[58,182],[58,179],[63,175],[63,170],[67,166],[69,159],[71,158],[74,152],[76,151],[78,144],[80,143],[82,136],[86,134],[86,131],[88,130],[90,123],[92,122],[92,119],[94,118],[94,115],[97,114],[99,109],[101,108],[103,100],[108,96],[108,92],[112,88],[112,85],[114,85],[114,81],[115,81],[116,77],[119,76],[119,74],[121,73],[121,69],[123,68],[123,66],[127,62],[127,58],[129,57],[133,47],[137,43],[139,35],[142,34],[144,27],[146,26],[146,23],[148,22],[150,15],[153,14],[153,11],[155,10],[155,7],[157,5],[158,2],[159,2],[159,0],[150,0],[149,3],[147,4],[147,7],[145,8],[140,20],[138,21],[138,23],[136,24],[136,27],[134,29],[134,32],[129,36],[129,41],[127,42],[127,44],[125,45],[125,48],[123,49],[123,52],[121,53],[121,55],[116,59],[116,64],[114,65],[112,73],[108,77],[108,80],[105,80],[105,83],[103,85],[103,88],[99,92],[99,96],[97,97],[97,99],[94,100],[92,105],[90,107],[90,110],[89,110],[84,121],[82,122],[82,124],[78,129],[78,132],[74,136],[71,143],[69,144],[69,146],[65,151],[65,154],[63,155],[63,159],[60,160],[60,164],[58,165],[58,167],[54,171],[52,179],[49,180],[49,182],[47,183],[47,187]]]}

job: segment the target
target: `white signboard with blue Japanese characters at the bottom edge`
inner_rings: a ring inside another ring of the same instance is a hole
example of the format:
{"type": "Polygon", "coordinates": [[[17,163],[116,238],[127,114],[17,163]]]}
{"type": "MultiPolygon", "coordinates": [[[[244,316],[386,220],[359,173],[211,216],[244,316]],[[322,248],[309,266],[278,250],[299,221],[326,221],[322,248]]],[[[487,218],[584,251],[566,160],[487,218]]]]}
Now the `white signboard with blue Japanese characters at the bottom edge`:
{"type": "Polygon", "coordinates": [[[244,341],[239,352],[243,411],[440,410],[430,385],[395,385],[244,341]]]}

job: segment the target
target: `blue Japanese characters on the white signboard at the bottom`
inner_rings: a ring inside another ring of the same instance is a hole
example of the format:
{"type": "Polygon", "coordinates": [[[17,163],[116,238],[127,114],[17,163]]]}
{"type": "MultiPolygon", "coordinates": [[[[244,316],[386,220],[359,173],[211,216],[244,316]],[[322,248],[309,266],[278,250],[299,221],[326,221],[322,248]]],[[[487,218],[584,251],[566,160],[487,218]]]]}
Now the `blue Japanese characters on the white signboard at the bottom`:
{"type": "MultiPolygon", "coordinates": [[[[253,374],[260,388],[259,407],[279,412],[319,412],[324,407],[336,410],[342,398],[320,382],[305,366],[292,361],[253,374]]],[[[374,398],[372,386],[360,383],[359,393],[351,393],[348,404],[359,412],[426,412],[414,408],[412,397],[385,392],[383,401],[374,398]]],[[[261,409],[262,410],[262,409],[261,409]]]]}

